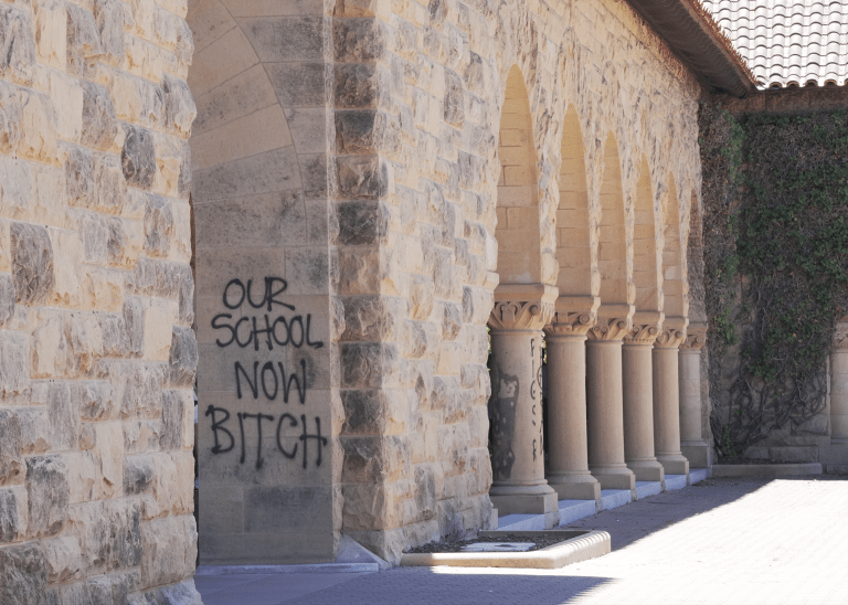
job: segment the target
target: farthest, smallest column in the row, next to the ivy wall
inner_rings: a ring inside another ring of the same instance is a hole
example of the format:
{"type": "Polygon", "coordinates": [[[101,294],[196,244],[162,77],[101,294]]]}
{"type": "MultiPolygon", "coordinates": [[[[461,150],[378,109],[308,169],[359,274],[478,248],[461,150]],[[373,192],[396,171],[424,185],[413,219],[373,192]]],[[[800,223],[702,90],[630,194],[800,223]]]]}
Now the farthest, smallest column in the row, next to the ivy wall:
{"type": "Polygon", "coordinates": [[[680,452],[692,468],[710,466],[710,446],[701,435],[701,348],[707,341],[707,325],[686,330],[680,343],[680,452]]]}

